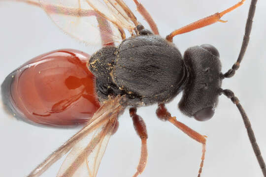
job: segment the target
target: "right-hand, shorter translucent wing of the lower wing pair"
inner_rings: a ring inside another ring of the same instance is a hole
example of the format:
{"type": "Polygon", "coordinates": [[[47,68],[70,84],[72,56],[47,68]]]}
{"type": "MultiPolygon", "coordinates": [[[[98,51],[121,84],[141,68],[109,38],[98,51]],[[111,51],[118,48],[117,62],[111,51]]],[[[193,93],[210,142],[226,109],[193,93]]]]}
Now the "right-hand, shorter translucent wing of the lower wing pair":
{"type": "Polygon", "coordinates": [[[106,119],[81,141],[67,155],[57,177],[96,177],[117,116],[106,119]]]}

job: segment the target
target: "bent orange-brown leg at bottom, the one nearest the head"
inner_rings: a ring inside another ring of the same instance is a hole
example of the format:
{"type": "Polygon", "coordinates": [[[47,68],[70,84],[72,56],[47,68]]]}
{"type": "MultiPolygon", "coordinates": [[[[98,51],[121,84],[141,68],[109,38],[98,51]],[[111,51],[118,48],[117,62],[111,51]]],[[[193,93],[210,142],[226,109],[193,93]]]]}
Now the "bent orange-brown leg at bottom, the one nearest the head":
{"type": "Polygon", "coordinates": [[[180,121],[177,121],[175,117],[171,117],[171,114],[167,111],[165,104],[159,104],[158,109],[156,110],[156,114],[159,119],[163,121],[169,121],[172,124],[174,124],[177,128],[179,128],[181,131],[183,131],[185,134],[187,134],[192,139],[196,140],[197,142],[202,144],[202,155],[201,155],[201,162],[199,166],[199,174],[198,177],[200,177],[203,162],[205,158],[205,145],[206,145],[206,138],[203,135],[200,135],[198,132],[194,131],[193,129],[189,128],[184,123],[181,123],[180,121]]]}

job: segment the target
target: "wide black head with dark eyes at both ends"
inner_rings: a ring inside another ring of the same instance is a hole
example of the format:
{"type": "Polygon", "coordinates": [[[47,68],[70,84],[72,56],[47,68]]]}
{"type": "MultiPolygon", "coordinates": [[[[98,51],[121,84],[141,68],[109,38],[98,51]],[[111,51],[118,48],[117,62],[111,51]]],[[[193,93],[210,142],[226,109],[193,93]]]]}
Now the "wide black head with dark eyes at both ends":
{"type": "Polygon", "coordinates": [[[189,80],[179,102],[185,115],[205,121],[214,115],[222,79],[218,50],[209,45],[191,47],[184,54],[189,80]]]}

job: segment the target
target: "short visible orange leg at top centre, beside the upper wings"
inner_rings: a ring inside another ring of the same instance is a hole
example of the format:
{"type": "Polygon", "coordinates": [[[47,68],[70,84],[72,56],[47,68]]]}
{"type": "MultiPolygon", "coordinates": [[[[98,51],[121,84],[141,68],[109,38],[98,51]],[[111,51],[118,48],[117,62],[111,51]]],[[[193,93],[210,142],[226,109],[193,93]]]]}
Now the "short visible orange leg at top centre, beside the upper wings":
{"type": "Polygon", "coordinates": [[[159,34],[159,30],[157,28],[156,23],[154,22],[154,20],[152,19],[151,15],[149,14],[149,12],[146,10],[146,8],[138,2],[138,0],[133,0],[136,4],[137,7],[137,11],[140,13],[140,15],[142,15],[142,17],[146,20],[146,22],[149,24],[151,30],[153,31],[154,34],[158,35],[159,34]]]}

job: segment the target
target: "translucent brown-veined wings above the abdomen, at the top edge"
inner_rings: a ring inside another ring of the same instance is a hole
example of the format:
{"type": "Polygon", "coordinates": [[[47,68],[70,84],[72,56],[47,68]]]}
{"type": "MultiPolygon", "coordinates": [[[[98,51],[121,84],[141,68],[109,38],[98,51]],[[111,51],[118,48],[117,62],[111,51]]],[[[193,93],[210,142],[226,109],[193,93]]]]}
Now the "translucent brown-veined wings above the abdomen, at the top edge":
{"type": "Polygon", "coordinates": [[[55,24],[86,44],[120,42],[137,24],[122,0],[39,0],[55,24]],[[101,42],[102,41],[102,42],[101,42]]]}

